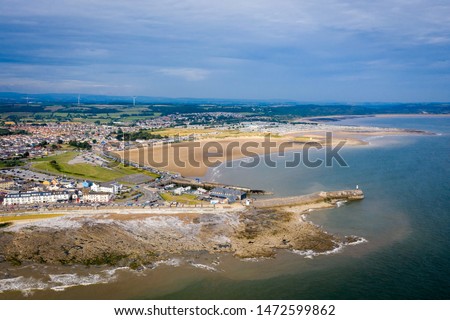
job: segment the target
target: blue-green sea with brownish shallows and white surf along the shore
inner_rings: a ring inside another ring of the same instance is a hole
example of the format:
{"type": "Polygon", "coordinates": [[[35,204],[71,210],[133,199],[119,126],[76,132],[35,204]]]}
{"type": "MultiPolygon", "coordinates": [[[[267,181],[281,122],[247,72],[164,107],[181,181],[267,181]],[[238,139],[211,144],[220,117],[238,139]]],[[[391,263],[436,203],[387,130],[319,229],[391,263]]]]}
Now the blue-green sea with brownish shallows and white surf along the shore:
{"type": "MultiPolygon", "coordinates": [[[[354,189],[365,199],[311,212],[337,235],[364,239],[327,254],[280,250],[274,259],[194,253],[132,271],[24,265],[3,270],[0,299],[450,299],[450,117],[362,117],[338,125],[426,130],[361,137],[333,161],[287,168],[293,152],[254,168],[223,164],[206,178],[290,196],[354,189]]],[[[312,150],[311,159],[324,159],[312,150]]],[[[261,159],[263,160],[263,159],[261,159]]]]}

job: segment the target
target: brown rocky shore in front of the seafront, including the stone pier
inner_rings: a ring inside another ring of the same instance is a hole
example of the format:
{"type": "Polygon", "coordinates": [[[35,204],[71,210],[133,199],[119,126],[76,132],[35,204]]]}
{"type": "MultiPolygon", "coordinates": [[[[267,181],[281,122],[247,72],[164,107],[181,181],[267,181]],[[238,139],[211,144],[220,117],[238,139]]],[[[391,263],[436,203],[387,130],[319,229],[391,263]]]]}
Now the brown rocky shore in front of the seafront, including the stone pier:
{"type": "Polygon", "coordinates": [[[140,268],[192,252],[239,258],[273,257],[278,249],[326,252],[357,239],[337,238],[304,213],[362,198],[360,190],[347,190],[206,213],[68,214],[1,228],[0,261],[140,268]]]}

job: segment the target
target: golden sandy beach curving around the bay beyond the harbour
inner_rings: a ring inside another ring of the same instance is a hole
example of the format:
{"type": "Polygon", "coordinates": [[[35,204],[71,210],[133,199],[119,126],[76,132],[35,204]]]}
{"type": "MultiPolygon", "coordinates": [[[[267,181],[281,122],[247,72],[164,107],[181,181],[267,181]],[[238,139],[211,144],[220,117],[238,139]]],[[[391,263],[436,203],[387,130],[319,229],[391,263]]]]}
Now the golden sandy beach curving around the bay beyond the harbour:
{"type": "Polygon", "coordinates": [[[369,143],[364,137],[395,135],[428,135],[420,130],[396,128],[327,126],[323,129],[294,130],[282,136],[267,140],[261,135],[240,136],[235,138],[211,139],[201,138],[192,142],[176,144],[142,146],[126,151],[116,151],[121,157],[158,170],[176,172],[185,177],[204,177],[208,170],[221,163],[242,160],[253,156],[261,156],[279,152],[299,151],[305,146],[312,148],[338,146],[366,146],[369,143]],[[326,133],[333,134],[331,142],[326,133]]]}

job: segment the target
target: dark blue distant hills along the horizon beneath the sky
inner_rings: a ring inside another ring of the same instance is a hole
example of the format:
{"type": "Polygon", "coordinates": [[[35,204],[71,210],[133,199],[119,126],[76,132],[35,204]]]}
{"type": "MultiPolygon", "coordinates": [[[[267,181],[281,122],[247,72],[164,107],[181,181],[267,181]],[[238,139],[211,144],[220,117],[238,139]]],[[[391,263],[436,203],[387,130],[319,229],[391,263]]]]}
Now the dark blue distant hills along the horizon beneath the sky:
{"type": "MultiPolygon", "coordinates": [[[[0,92],[0,113],[48,112],[49,105],[77,107],[78,94],[43,93],[24,94],[0,92]]],[[[99,113],[96,105],[108,105],[108,112],[125,111],[133,105],[132,96],[80,95],[79,110],[70,112],[99,113]],[[117,109],[117,110],[116,110],[117,109]]],[[[307,103],[291,100],[243,100],[136,97],[136,105],[149,106],[161,115],[194,112],[243,112],[260,116],[289,118],[290,116],[370,115],[370,114],[450,114],[450,103],[307,103]]],[[[105,108],[105,107],[103,107],[105,108]]],[[[106,112],[102,109],[103,112],[106,112]]]]}

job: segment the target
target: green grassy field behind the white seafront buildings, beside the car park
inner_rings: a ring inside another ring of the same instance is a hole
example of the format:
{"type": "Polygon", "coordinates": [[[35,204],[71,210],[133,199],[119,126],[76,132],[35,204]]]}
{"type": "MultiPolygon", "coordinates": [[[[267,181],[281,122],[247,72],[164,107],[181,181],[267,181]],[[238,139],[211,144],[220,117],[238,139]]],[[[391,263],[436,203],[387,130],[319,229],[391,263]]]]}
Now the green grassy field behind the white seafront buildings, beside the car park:
{"type": "Polygon", "coordinates": [[[130,174],[145,174],[153,178],[158,175],[134,167],[125,167],[122,164],[115,164],[111,167],[94,166],[87,163],[69,164],[68,162],[75,158],[79,152],[68,151],[55,156],[36,159],[32,164],[32,168],[41,171],[54,173],[58,175],[67,175],[74,178],[89,179],[95,181],[120,181],[121,178],[130,174]],[[55,161],[52,163],[52,161],[55,161]]]}

